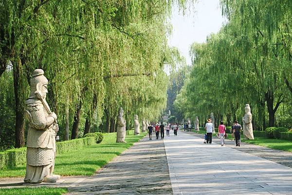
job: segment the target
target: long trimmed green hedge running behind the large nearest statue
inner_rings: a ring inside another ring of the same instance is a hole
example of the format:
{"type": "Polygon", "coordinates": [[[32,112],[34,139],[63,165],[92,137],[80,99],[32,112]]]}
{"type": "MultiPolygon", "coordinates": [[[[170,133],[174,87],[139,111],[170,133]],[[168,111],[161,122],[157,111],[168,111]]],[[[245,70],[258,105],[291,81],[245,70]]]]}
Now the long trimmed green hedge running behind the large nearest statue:
{"type": "MultiPolygon", "coordinates": [[[[92,145],[95,143],[94,137],[80,138],[65,142],[56,142],[57,154],[68,152],[69,150],[77,150],[84,145],[92,145]]],[[[7,167],[17,167],[26,163],[26,147],[15,148],[0,152],[0,169],[7,167]]]]}

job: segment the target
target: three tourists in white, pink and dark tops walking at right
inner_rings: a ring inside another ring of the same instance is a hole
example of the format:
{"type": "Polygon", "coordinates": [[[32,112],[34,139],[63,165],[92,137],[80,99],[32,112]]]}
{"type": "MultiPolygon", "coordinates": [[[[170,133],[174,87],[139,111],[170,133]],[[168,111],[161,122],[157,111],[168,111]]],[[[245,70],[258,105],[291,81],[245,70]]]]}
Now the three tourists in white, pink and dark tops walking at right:
{"type": "MultiPolygon", "coordinates": [[[[207,123],[205,124],[206,134],[205,134],[205,141],[204,143],[212,143],[212,133],[214,130],[214,124],[212,123],[211,119],[207,120],[207,123]]],[[[231,133],[232,137],[235,137],[236,146],[240,146],[240,132],[241,132],[241,125],[238,124],[238,121],[234,121],[234,124],[231,127],[231,133]]],[[[221,146],[225,145],[225,138],[227,137],[226,134],[226,126],[223,124],[223,121],[220,121],[220,124],[218,126],[218,134],[217,136],[220,138],[221,146]]]]}

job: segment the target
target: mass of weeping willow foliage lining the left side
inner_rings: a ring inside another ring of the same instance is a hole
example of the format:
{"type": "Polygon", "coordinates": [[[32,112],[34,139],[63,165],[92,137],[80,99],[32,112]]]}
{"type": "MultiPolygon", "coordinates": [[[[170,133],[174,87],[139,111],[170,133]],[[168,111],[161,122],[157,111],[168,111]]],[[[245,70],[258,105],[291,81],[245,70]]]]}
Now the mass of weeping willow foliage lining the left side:
{"type": "MultiPolygon", "coordinates": [[[[162,70],[164,63],[174,61],[169,57],[166,21],[174,3],[184,10],[193,1],[1,1],[0,79],[13,73],[14,97],[4,96],[14,99],[10,106],[16,117],[15,146],[25,142],[24,101],[36,68],[49,79],[48,103],[66,139],[70,124],[71,138],[77,138],[80,123],[86,121],[84,131],[89,131],[93,116],[100,123],[104,112],[112,118],[119,106],[128,105],[129,114],[157,117],[160,112],[150,106],[162,109],[165,98],[151,99],[145,90],[149,86],[166,90],[160,81],[165,76],[162,70]],[[128,84],[141,86],[135,89],[128,84]],[[135,105],[140,99],[141,104],[135,105]]],[[[11,85],[6,82],[3,89],[11,85]]]]}

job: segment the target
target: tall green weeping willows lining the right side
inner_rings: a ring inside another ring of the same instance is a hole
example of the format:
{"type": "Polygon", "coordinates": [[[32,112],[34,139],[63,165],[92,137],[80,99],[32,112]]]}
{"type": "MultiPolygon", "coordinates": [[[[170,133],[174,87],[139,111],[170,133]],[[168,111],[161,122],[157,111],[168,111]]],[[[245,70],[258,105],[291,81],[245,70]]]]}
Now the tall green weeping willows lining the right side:
{"type": "Polygon", "coordinates": [[[214,112],[218,123],[240,121],[248,103],[256,129],[266,126],[266,113],[274,126],[279,106],[292,100],[292,1],[221,0],[221,5],[228,22],[206,43],[192,45],[193,70],[177,104],[191,102],[187,112],[202,119],[214,112]]]}

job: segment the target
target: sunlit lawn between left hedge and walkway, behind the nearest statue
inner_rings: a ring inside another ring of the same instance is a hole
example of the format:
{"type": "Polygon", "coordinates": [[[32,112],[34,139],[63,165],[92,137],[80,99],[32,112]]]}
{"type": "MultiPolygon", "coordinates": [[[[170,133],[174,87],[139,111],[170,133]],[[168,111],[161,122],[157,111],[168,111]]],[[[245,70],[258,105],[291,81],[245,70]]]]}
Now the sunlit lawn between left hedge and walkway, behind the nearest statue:
{"type": "MultiPolygon", "coordinates": [[[[54,174],[62,176],[91,176],[96,170],[110,162],[146,133],[127,135],[127,143],[116,143],[116,134],[105,136],[103,142],[56,156],[54,174]]],[[[24,177],[25,165],[0,171],[0,177],[24,177]]]]}

